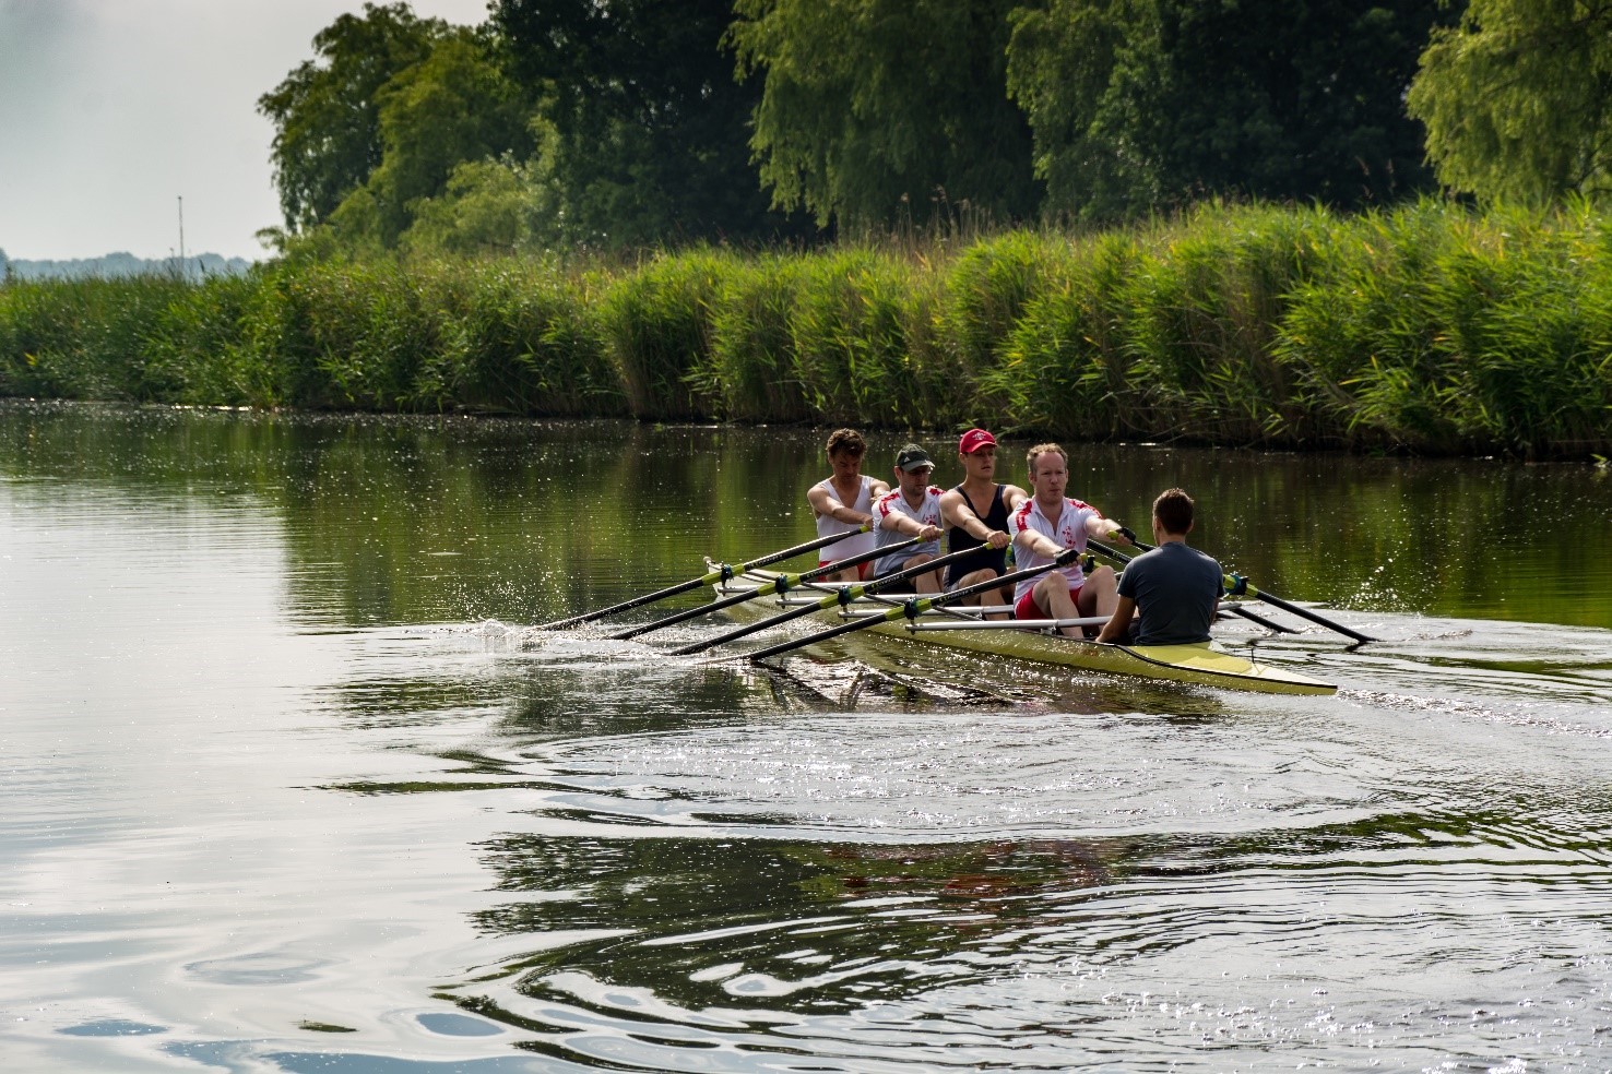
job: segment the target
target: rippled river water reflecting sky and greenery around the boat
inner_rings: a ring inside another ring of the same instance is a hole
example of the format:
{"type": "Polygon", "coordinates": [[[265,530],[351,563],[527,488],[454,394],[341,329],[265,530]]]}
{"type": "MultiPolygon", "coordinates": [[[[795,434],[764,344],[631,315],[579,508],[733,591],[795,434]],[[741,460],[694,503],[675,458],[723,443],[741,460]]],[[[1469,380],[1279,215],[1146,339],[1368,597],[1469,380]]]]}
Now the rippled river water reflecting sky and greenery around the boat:
{"type": "Polygon", "coordinates": [[[1336,697],[529,630],[821,440],[0,404],[3,1069],[1612,1069],[1612,477],[1075,452],[1336,697]]]}

